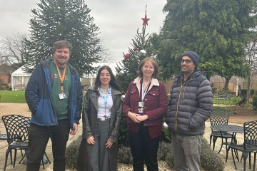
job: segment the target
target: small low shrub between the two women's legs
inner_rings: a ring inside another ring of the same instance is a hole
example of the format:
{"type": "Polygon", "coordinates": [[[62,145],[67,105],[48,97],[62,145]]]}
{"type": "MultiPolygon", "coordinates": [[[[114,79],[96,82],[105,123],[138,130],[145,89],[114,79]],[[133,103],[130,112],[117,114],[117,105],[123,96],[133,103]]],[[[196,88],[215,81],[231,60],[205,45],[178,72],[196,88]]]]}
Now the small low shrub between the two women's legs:
{"type": "Polygon", "coordinates": [[[130,147],[128,146],[122,146],[119,148],[118,151],[118,158],[120,163],[125,163],[125,164],[132,164],[132,155],[131,155],[131,150],[130,147]]]}

